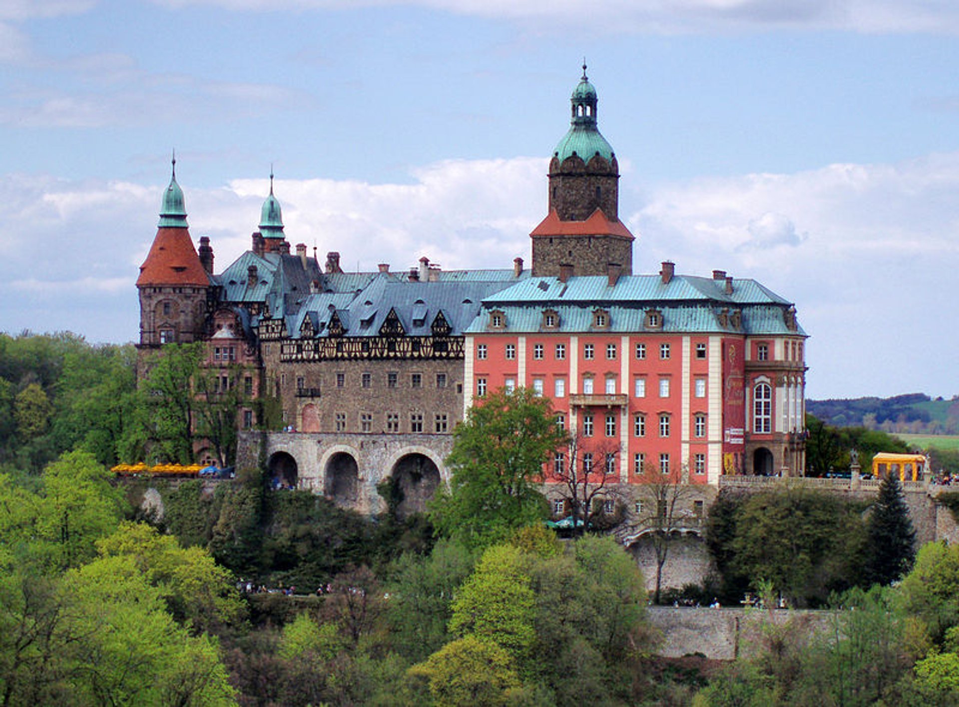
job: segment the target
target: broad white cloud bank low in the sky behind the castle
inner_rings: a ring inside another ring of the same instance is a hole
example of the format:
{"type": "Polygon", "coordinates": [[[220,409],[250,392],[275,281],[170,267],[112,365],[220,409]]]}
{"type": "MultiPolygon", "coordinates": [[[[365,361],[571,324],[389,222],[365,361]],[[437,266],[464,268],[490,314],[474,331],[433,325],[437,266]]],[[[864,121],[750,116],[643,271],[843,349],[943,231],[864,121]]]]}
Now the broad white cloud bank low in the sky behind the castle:
{"type": "MultiPolygon", "coordinates": [[[[426,255],[445,268],[510,267],[546,213],[541,158],[450,160],[409,184],[278,180],[288,239],[347,268],[394,271],[426,255]]],[[[165,184],[0,178],[0,330],[136,335],[132,279],[155,233],[165,184]]],[[[211,237],[217,269],[249,247],[266,179],[182,185],[191,233],[211,237]]],[[[896,165],[830,165],[642,187],[623,185],[637,272],[676,262],[754,278],[794,301],[812,335],[814,397],[952,395],[954,273],[959,270],[959,153],[896,165]]]]}

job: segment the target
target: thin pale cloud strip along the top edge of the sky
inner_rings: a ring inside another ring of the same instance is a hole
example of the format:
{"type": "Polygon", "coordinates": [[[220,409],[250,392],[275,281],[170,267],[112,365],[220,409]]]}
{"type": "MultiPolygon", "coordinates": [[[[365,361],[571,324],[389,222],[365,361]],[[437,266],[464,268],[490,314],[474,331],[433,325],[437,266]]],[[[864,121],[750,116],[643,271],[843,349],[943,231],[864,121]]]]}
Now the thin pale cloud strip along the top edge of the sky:
{"type": "Polygon", "coordinates": [[[776,28],[861,33],[959,32],[959,6],[925,0],[153,0],[231,11],[418,5],[439,11],[589,28],[601,33],[712,33],[776,28]]]}

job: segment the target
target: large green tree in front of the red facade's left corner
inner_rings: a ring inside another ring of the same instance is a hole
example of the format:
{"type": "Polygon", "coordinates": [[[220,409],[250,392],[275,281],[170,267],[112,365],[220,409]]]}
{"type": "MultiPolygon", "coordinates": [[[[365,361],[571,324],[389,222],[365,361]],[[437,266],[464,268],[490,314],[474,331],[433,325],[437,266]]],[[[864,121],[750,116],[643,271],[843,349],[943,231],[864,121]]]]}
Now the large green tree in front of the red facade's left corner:
{"type": "Polygon", "coordinates": [[[549,508],[532,480],[564,441],[549,399],[531,390],[479,400],[454,430],[450,489],[439,491],[431,510],[437,532],[484,547],[544,520],[549,508]]]}

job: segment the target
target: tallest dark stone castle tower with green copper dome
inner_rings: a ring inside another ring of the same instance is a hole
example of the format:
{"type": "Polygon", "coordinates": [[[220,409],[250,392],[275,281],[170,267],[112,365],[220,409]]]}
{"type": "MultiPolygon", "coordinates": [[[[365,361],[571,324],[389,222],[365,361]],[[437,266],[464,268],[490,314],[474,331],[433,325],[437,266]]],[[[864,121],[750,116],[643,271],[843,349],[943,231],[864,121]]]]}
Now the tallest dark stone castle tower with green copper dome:
{"type": "Polygon", "coordinates": [[[550,214],[530,234],[532,274],[632,274],[634,237],[619,216],[620,166],[596,126],[586,64],[570,101],[570,129],[550,160],[550,214]]]}

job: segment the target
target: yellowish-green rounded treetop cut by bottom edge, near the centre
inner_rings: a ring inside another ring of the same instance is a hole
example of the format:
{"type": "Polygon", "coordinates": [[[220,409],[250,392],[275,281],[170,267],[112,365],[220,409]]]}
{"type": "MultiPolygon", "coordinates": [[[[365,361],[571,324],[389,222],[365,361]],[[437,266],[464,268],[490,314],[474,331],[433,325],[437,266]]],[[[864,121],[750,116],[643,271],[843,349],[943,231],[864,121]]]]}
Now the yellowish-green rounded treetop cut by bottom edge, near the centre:
{"type": "Polygon", "coordinates": [[[447,644],[412,672],[429,679],[435,707],[506,705],[507,691],[520,686],[509,653],[475,635],[447,644]]]}

